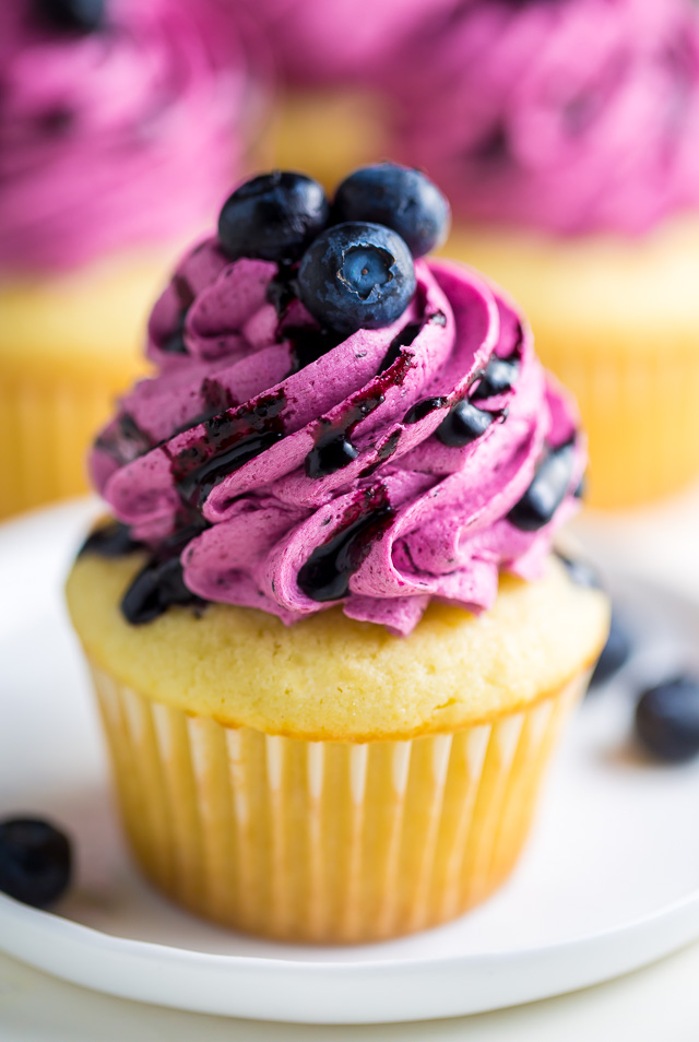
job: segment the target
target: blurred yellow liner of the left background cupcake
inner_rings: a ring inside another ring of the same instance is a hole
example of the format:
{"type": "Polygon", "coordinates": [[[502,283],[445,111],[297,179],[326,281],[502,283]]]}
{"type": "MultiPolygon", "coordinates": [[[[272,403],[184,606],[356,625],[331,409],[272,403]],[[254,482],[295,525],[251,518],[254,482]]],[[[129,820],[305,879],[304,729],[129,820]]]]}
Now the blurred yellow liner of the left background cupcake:
{"type": "Polygon", "coordinates": [[[0,365],[0,518],[87,492],[87,450],[128,383],[23,377],[0,365]]]}

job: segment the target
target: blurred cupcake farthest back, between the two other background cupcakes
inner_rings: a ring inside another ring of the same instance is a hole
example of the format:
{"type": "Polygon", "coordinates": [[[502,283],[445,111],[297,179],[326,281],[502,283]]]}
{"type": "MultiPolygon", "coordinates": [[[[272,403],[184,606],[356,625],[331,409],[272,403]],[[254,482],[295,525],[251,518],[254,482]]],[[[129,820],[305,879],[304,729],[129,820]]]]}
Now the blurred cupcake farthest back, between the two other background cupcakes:
{"type": "Polygon", "coordinates": [[[452,2],[256,0],[283,86],[272,122],[273,162],[308,170],[330,190],[345,170],[384,158],[386,67],[426,16],[452,2]]]}

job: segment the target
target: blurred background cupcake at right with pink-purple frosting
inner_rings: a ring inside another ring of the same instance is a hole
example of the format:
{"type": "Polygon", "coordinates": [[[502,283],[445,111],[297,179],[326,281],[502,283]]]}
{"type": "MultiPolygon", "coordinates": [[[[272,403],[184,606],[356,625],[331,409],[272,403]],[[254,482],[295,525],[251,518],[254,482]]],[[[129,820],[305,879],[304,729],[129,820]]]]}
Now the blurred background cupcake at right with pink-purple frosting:
{"type": "Polygon", "coordinates": [[[401,61],[393,151],[447,190],[450,249],[514,294],[574,391],[592,502],[680,487],[699,472],[696,4],[473,0],[401,61]]]}

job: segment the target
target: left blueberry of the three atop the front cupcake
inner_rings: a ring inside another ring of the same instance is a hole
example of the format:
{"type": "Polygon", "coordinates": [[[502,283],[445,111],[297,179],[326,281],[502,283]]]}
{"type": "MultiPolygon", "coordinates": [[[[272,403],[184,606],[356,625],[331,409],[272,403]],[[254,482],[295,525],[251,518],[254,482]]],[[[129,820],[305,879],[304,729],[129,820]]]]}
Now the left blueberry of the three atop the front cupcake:
{"type": "Polygon", "coordinates": [[[218,239],[232,258],[295,261],[328,224],[325,192],[304,174],[274,170],[246,181],[218,216],[218,239]]]}

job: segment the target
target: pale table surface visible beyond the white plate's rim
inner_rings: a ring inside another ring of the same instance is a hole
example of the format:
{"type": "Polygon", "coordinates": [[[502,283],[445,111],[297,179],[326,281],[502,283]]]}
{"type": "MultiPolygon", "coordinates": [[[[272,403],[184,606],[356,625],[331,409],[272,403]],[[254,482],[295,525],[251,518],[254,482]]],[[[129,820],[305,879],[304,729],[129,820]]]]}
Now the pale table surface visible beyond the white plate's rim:
{"type": "MultiPolygon", "coordinates": [[[[620,565],[699,595],[699,485],[632,514],[585,516],[574,532],[592,555],[604,545],[620,565]]],[[[229,1020],[145,1006],[85,991],[0,956],[2,1042],[606,1042],[623,1029],[619,1038],[635,1042],[697,1042],[699,945],[619,980],[514,1009],[345,1028],[229,1020]]]]}

